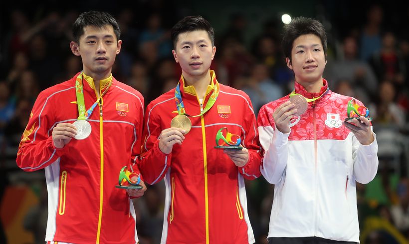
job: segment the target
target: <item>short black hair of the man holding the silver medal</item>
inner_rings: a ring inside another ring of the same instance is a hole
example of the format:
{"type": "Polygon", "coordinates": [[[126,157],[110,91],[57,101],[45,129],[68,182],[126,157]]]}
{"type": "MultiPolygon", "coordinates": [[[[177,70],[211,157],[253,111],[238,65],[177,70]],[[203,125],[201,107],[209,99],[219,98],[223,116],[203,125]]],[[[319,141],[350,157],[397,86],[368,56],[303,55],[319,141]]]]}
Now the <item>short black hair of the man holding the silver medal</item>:
{"type": "Polygon", "coordinates": [[[116,39],[119,40],[121,29],[119,28],[118,22],[111,14],[99,11],[82,12],[72,24],[72,37],[74,41],[79,44],[79,38],[84,34],[85,27],[95,26],[104,28],[106,25],[112,26],[116,39]]]}

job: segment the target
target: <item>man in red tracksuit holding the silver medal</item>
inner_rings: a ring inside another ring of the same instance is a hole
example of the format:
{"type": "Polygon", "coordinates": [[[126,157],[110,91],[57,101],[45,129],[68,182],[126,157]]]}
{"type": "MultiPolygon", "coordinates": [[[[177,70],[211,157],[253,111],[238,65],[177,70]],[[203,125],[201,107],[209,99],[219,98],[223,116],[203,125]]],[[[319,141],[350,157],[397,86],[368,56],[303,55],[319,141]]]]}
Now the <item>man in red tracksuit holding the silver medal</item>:
{"type": "Polygon", "coordinates": [[[146,187],[127,194],[115,185],[140,152],[144,99],[111,74],[119,35],[110,14],[80,14],[70,47],[83,71],[38,95],[21,137],[18,167],[45,170],[49,243],[138,243],[130,196],[146,187]]]}

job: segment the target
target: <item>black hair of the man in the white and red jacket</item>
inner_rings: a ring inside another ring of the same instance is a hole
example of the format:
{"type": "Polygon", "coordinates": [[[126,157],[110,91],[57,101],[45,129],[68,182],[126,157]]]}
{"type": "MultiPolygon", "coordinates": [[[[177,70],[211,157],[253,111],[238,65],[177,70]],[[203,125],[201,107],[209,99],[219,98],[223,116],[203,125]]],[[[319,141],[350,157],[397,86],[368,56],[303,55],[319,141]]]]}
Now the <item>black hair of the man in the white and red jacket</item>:
{"type": "Polygon", "coordinates": [[[322,23],[316,19],[308,17],[296,17],[284,26],[283,39],[281,45],[284,54],[291,60],[291,50],[294,40],[300,35],[314,34],[321,39],[324,48],[324,54],[327,53],[327,34],[322,23]]]}

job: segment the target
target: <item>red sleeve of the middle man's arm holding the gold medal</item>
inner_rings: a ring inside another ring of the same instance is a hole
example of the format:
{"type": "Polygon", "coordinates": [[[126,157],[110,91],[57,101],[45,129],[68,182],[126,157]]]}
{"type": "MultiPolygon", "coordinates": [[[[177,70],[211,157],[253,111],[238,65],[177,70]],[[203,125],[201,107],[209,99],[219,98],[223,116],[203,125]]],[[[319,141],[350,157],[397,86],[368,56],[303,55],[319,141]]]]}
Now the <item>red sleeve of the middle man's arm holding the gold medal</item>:
{"type": "Polygon", "coordinates": [[[145,112],[145,122],[142,138],[143,145],[141,155],[137,160],[137,165],[144,180],[148,184],[158,183],[165,177],[168,168],[171,166],[172,153],[164,154],[159,149],[158,137],[163,128],[161,126],[160,115],[157,110],[149,104],[145,112]]]}

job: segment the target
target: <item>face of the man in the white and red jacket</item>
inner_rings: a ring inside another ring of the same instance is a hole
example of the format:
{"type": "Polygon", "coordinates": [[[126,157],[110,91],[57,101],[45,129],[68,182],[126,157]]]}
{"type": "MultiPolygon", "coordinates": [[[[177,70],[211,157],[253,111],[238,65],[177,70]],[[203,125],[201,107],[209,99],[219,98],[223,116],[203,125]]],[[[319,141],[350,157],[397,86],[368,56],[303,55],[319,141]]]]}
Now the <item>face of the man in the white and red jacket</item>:
{"type": "Polygon", "coordinates": [[[327,61],[321,39],[317,35],[297,37],[291,49],[291,59],[286,58],[287,66],[294,71],[298,83],[304,86],[322,83],[322,73],[327,61]]]}

